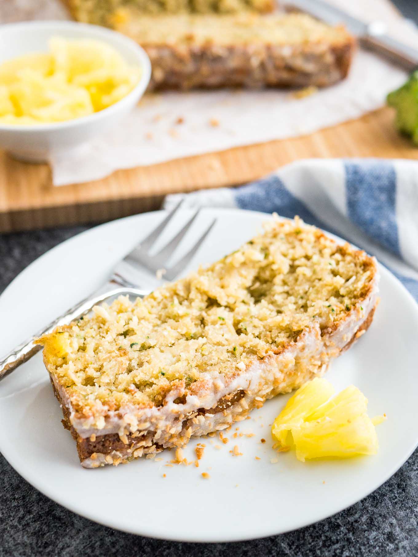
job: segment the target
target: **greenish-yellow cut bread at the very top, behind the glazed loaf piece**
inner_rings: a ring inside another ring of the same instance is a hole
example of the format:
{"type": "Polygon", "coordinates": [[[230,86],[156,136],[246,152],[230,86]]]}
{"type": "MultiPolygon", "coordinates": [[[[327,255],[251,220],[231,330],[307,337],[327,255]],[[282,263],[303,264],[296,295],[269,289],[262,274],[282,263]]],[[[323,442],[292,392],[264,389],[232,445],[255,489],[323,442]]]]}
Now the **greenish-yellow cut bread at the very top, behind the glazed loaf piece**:
{"type": "Polygon", "coordinates": [[[64,0],[74,19],[115,27],[144,14],[271,12],[274,0],[64,0]]]}

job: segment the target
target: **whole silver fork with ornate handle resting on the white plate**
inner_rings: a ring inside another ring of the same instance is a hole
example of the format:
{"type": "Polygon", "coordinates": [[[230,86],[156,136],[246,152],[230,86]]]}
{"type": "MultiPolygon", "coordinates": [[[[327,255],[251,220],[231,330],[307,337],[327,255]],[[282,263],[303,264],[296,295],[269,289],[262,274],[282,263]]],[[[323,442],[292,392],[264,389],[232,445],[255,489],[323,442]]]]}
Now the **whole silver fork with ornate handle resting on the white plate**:
{"type": "Polygon", "coordinates": [[[146,296],[152,291],[152,287],[158,285],[158,283],[161,284],[161,280],[158,280],[155,276],[155,273],[158,273],[160,270],[164,271],[163,277],[165,280],[174,280],[183,268],[186,267],[189,261],[191,261],[216,222],[216,219],[213,219],[210,226],[206,228],[205,232],[198,238],[193,247],[179,259],[177,263],[167,269],[163,269],[199,214],[199,211],[196,211],[192,218],[184,224],[172,240],[170,240],[158,253],[150,255],[150,248],[157,242],[167,224],[177,213],[181,204],[182,202],[178,203],[177,206],[163,218],[157,228],[116,264],[109,280],[101,286],[99,290],[95,291],[85,300],[79,302],[79,304],[71,307],[65,314],[57,317],[57,319],[52,321],[52,323],[47,325],[44,329],[38,331],[38,333],[33,335],[30,339],[25,340],[22,344],[16,346],[9,354],[4,356],[4,358],[0,360],[0,380],[41,350],[42,346],[34,344],[34,340],[39,336],[51,333],[57,326],[68,325],[74,319],[78,319],[82,315],[87,314],[93,306],[100,304],[100,302],[110,297],[127,294],[140,297],[146,296]],[[143,282],[149,289],[144,290],[139,288],[139,285],[143,282]]]}

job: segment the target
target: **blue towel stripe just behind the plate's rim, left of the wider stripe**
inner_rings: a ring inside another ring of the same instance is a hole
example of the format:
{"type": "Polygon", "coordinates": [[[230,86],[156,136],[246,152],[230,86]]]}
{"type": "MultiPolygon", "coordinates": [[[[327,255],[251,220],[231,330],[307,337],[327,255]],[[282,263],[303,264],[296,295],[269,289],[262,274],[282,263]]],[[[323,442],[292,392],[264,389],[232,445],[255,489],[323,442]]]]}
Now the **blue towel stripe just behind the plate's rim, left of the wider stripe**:
{"type": "Polygon", "coordinates": [[[302,201],[294,197],[275,175],[236,188],[234,198],[240,209],[251,209],[262,213],[276,212],[288,218],[293,218],[297,214],[309,224],[319,228],[324,227],[324,223],[319,221],[302,201]]]}

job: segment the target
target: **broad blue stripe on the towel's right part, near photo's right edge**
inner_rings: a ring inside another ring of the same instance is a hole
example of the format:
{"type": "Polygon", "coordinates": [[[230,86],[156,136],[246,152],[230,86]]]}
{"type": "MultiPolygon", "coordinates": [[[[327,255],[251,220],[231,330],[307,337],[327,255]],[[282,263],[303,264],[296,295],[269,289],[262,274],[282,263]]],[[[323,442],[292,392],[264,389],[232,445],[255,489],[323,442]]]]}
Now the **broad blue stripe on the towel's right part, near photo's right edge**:
{"type": "Polygon", "coordinates": [[[348,218],[401,256],[396,224],[396,172],[384,160],[344,163],[348,218]]]}

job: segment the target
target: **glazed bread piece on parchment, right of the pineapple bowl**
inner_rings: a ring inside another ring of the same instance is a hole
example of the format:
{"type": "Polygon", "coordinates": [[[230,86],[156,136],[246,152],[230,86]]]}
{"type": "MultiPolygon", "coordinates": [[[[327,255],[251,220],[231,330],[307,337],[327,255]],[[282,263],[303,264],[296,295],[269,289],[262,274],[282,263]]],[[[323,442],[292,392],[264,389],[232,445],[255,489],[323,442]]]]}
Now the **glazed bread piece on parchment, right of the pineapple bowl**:
{"type": "Polygon", "coordinates": [[[157,16],[116,29],[145,48],[149,89],[332,85],[347,76],[356,42],[307,14],[157,16]]]}

